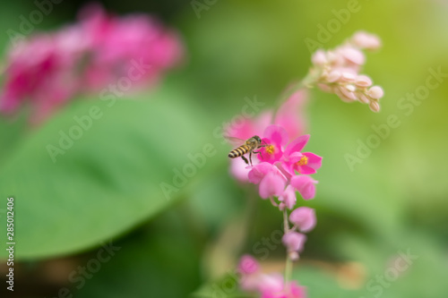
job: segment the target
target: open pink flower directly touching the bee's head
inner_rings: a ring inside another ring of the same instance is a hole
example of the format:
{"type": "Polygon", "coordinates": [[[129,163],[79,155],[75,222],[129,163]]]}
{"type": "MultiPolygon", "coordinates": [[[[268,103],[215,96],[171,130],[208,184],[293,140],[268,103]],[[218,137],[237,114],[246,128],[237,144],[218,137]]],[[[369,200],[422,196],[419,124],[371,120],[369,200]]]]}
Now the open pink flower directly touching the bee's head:
{"type": "Polygon", "coordinates": [[[288,142],[288,132],[279,125],[270,125],[264,130],[263,144],[258,158],[271,164],[276,163],[283,156],[282,147],[288,142]]]}

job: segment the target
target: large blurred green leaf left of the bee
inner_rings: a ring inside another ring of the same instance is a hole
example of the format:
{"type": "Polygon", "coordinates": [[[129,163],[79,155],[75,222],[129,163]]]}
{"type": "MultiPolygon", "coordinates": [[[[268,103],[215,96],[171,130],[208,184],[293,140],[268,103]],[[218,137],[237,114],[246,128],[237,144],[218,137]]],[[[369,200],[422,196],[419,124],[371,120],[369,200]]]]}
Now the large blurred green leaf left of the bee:
{"type": "Polygon", "coordinates": [[[211,132],[198,116],[205,113],[185,102],[165,91],[112,106],[84,100],[22,140],[0,170],[0,208],[7,196],[14,198],[15,258],[52,257],[99,245],[168,208],[194,185],[218,158],[199,160],[205,164],[199,167],[187,158],[204,149],[211,156],[216,149],[206,145],[211,132]],[[84,128],[75,119],[83,119],[84,128]],[[51,158],[48,145],[61,149],[61,135],[72,141],[63,140],[64,154],[51,158]],[[190,165],[185,169],[190,177],[166,195],[160,183],[176,187],[173,178],[185,165],[190,165]]]}

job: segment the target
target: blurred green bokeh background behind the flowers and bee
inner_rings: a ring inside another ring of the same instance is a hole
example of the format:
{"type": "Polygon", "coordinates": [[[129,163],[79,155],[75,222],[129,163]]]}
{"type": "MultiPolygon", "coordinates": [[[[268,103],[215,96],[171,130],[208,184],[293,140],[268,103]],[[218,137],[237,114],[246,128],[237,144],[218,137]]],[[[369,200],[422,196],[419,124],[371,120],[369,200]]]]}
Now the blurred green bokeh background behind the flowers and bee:
{"type": "MultiPolygon", "coordinates": [[[[76,98],[37,128],[25,112],[0,118],[1,245],[7,196],[15,199],[17,243],[13,294],[5,291],[6,253],[0,253],[2,296],[244,297],[232,277],[242,253],[267,256],[261,260],[267,271],[282,269],[284,248],[263,243],[280,229],[280,212],[257,199],[253,185],[228,174],[230,147],[213,131],[241,113],[244,98],[276,106],[310,67],[306,38],[319,40],[318,25],[326,27],[335,19],[332,10],[349,2],[198,2],[208,8],[200,17],[189,1],[102,2],[109,12],[151,13],[177,29],[185,63],[157,88],[104,107],[104,116],[55,164],[47,144],[57,143],[73,115],[100,105],[98,96],[76,98]],[[159,184],[172,183],[173,169],[209,143],[216,154],[168,200],[159,184]],[[82,273],[98,259],[101,243],[110,242],[119,250],[96,272],[82,273]]],[[[72,23],[83,4],[54,4],[35,31],[72,23]]],[[[444,297],[447,78],[412,104],[409,115],[398,103],[425,86],[428,69],[448,72],[448,2],[358,5],[323,47],[337,46],[356,30],[382,38],[383,48],[367,55],[365,67],[385,90],[382,111],[310,92],[307,149],[324,159],[315,175],[316,198],[301,202],[316,209],[318,225],[294,277],[310,297],[444,297]],[[372,125],[387,123],[390,115],[401,125],[351,171],[345,155],[356,155],[358,140],[366,142],[375,133],[372,125]],[[393,264],[402,253],[414,260],[396,276],[393,264]]],[[[36,6],[14,1],[0,7],[6,53],[6,30],[17,30],[19,16],[36,6]]]]}

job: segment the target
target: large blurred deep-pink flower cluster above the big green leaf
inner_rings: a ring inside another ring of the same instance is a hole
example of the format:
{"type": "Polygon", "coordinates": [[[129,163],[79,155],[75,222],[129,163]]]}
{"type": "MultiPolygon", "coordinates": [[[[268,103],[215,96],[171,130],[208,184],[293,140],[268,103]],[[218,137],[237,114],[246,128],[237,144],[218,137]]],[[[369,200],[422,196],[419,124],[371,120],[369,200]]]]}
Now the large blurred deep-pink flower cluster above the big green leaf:
{"type": "Polygon", "coordinates": [[[82,10],[78,23],[22,40],[10,50],[0,112],[12,114],[29,101],[30,120],[39,123],[73,96],[98,92],[121,78],[130,79],[132,87],[153,84],[182,56],[177,34],[158,21],[111,16],[93,4],[82,10]]]}

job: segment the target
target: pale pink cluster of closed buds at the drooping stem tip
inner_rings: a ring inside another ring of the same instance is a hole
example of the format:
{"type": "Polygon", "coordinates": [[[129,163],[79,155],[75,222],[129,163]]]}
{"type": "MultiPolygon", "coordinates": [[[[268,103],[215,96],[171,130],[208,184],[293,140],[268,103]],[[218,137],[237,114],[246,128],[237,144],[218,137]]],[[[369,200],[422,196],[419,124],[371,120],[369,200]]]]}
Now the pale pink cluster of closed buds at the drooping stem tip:
{"type": "Polygon", "coordinates": [[[313,83],[326,92],[335,93],[345,102],[358,100],[378,112],[383,89],[372,86],[372,79],[359,72],[366,62],[366,56],[361,50],[379,47],[381,41],[378,37],[358,31],[340,47],[328,51],[317,50],[312,56],[313,66],[310,70],[313,83]]]}

